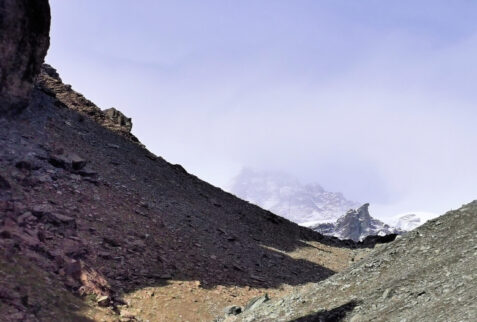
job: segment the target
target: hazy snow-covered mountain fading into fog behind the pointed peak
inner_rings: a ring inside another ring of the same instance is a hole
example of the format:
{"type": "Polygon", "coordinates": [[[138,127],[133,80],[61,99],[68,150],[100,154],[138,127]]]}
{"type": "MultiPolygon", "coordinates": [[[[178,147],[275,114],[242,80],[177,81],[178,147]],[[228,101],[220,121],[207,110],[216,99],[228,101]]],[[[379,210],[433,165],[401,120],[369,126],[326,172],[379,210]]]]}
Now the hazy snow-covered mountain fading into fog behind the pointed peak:
{"type": "Polygon", "coordinates": [[[358,203],[318,184],[302,184],[277,172],[244,169],[229,191],[238,197],[301,225],[333,222],[358,203]]]}

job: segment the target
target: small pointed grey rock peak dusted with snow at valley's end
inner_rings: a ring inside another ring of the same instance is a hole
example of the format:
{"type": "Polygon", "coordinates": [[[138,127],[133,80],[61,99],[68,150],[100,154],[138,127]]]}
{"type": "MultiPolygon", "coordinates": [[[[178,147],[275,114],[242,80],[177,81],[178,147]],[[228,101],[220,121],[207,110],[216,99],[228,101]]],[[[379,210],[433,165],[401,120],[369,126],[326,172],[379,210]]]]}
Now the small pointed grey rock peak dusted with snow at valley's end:
{"type": "Polygon", "coordinates": [[[324,235],[354,241],[362,241],[367,236],[386,236],[404,232],[371,217],[368,208],[369,204],[366,203],[356,210],[350,209],[346,215],[338,218],[336,223],[323,223],[310,228],[324,235]]]}

